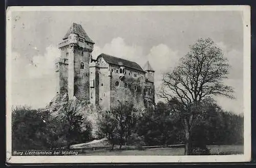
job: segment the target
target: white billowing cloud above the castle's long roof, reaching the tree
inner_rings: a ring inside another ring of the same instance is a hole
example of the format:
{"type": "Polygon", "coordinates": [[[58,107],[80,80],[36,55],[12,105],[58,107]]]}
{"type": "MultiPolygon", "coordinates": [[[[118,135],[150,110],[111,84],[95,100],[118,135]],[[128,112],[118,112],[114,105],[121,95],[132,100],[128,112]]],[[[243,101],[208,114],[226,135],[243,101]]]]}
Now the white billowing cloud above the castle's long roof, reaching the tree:
{"type": "Polygon", "coordinates": [[[143,68],[149,61],[155,70],[155,87],[161,84],[162,73],[171,70],[178,62],[178,51],[170,49],[166,44],[152,46],[150,51],[143,51],[142,46],[126,44],[123,38],[117,37],[106,43],[103,47],[94,46],[93,57],[105,53],[119,58],[137,62],[143,68]],[[147,54],[144,54],[147,53],[147,54]]]}

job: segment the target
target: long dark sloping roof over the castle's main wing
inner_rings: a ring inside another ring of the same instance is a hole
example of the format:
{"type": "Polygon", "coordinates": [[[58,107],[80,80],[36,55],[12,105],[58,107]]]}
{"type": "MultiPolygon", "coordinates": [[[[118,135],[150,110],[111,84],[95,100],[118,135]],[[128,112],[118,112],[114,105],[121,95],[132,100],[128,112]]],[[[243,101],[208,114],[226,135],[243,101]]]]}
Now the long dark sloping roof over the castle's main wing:
{"type": "Polygon", "coordinates": [[[129,68],[133,68],[133,69],[136,69],[136,70],[139,70],[139,71],[144,71],[139,64],[137,64],[136,62],[133,62],[133,61],[129,61],[129,60],[125,60],[125,59],[122,59],[122,58],[117,58],[117,57],[114,57],[114,56],[110,56],[110,55],[107,55],[107,54],[100,54],[97,59],[99,57],[102,57],[107,63],[109,64],[115,64],[115,65],[123,65],[123,66],[126,66],[126,67],[129,67],[129,68]]]}

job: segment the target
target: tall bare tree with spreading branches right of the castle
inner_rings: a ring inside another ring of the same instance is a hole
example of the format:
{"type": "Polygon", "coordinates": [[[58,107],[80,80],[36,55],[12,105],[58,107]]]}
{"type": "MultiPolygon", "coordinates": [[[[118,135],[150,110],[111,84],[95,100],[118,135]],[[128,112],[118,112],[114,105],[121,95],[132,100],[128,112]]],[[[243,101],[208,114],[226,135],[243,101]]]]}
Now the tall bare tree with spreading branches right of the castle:
{"type": "Polygon", "coordinates": [[[191,131],[201,112],[200,104],[212,95],[234,98],[233,89],[223,83],[228,75],[228,60],[210,38],[200,38],[180,59],[180,64],[163,76],[161,98],[174,106],[183,117],[185,155],[192,152],[191,131]]]}

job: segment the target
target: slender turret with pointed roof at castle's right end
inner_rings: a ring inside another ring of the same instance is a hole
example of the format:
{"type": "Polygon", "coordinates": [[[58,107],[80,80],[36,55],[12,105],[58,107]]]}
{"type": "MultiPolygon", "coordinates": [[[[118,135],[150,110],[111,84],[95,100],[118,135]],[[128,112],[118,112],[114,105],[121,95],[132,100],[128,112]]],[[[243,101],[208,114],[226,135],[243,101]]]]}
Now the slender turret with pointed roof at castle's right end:
{"type": "Polygon", "coordinates": [[[148,103],[151,102],[155,104],[155,85],[154,85],[154,73],[155,70],[150,65],[150,62],[146,62],[143,67],[145,71],[145,88],[144,88],[144,102],[148,103]]]}

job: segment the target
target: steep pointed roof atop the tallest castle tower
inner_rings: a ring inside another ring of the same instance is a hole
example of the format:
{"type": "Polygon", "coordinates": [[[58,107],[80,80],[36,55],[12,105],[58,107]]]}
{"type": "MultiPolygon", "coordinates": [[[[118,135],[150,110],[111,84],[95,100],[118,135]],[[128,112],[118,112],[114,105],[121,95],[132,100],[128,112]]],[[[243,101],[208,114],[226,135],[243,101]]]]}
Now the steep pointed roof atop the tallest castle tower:
{"type": "Polygon", "coordinates": [[[71,27],[69,28],[68,32],[66,33],[63,39],[68,38],[70,33],[75,33],[79,37],[84,38],[86,41],[95,44],[95,42],[87,35],[86,31],[83,30],[82,26],[77,23],[72,23],[71,27]]]}

